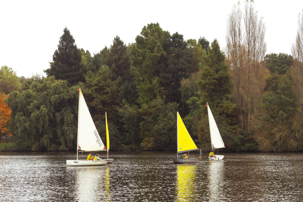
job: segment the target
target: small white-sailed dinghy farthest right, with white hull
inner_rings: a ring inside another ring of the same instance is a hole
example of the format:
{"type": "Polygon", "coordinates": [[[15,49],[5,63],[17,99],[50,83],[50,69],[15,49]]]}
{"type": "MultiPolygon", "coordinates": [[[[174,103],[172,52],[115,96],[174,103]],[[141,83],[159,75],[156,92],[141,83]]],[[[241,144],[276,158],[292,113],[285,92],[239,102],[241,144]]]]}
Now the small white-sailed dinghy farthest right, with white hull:
{"type": "MultiPolygon", "coordinates": [[[[206,102],[207,103],[207,102],[206,102]]],[[[209,121],[209,131],[210,131],[210,138],[211,138],[211,148],[212,149],[220,149],[225,148],[223,143],[222,137],[220,135],[218,126],[212,115],[208,103],[207,105],[207,112],[208,112],[208,121],[209,121]]],[[[208,157],[209,160],[221,160],[224,158],[223,155],[215,155],[216,157],[208,157]]]]}

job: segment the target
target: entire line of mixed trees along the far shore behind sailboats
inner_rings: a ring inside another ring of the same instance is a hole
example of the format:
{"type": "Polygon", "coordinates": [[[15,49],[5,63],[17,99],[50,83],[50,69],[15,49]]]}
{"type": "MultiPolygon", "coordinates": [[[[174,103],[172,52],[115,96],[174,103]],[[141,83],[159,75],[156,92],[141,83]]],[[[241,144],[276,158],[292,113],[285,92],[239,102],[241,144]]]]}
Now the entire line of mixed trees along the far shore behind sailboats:
{"type": "Polygon", "coordinates": [[[32,151],[74,150],[81,88],[104,142],[107,112],[112,150],[174,151],[179,111],[208,151],[208,102],[225,151],[302,151],[303,15],[292,55],[265,55],[265,31],[253,2],[232,8],[225,51],[216,39],[184,40],[150,23],[135,43],[117,35],[91,55],[64,28],[46,78],[2,66],[1,135],[32,151]]]}

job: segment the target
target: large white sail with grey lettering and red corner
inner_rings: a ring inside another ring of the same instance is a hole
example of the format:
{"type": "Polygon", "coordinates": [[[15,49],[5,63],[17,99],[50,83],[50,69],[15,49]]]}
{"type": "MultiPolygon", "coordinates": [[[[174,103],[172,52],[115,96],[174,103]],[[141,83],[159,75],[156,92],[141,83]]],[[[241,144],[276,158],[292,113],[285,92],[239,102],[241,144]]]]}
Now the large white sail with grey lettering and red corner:
{"type": "Polygon", "coordinates": [[[78,111],[78,141],[77,150],[102,151],[106,150],[99,133],[95,127],[91,114],[84,100],[81,89],[79,89],[79,111],[78,111]]]}

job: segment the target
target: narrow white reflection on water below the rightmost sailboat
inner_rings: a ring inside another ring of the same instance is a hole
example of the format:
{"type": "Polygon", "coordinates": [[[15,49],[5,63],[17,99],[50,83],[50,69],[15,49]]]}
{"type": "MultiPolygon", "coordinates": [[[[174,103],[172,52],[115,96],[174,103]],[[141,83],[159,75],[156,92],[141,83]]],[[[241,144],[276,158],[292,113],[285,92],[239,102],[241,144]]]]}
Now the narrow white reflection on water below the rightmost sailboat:
{"type": "Polygon", "coordinates": [[[209,161],[208,170],[208,194],[209,201],[216,201],[220,199],[221,192],[224,190],[224,161],[209,161]]]}

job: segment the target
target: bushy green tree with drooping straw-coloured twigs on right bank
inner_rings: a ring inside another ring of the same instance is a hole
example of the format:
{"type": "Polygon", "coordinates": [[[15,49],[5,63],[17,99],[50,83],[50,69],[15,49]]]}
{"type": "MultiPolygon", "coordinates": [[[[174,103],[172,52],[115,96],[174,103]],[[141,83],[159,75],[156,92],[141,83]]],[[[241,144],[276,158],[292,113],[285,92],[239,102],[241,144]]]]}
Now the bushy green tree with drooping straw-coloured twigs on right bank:
{"type": "Polygon", "coordinates": [[[252,129],[261,151],[287,152],[302,149],[303,121],[295,114],[295,94],[291,87],[291,79],[288,75],[283,75],[277,89],[265,94],[258,105],[252,129]]]}

